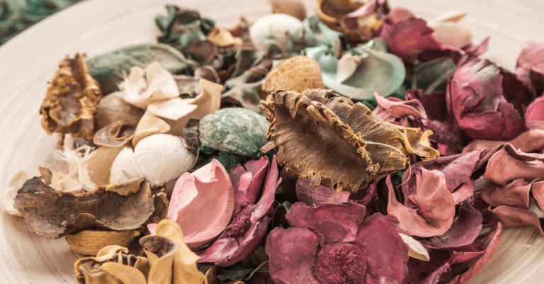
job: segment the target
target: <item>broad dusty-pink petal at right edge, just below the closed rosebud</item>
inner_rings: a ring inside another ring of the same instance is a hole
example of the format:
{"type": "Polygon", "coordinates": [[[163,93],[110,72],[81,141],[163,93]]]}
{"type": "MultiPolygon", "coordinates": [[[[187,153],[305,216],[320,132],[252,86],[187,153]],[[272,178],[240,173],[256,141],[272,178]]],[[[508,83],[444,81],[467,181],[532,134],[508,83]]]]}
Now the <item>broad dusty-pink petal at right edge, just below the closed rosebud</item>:
{"type": "Polygon", "coordinates": [[[514,178],[525,178],[527,181],[533,181],[543,176],[544,164],[542,162],[522,161],[512,157],[511,154],[502,149],[489,159],[484,179],[504,185],[514,178]]]}

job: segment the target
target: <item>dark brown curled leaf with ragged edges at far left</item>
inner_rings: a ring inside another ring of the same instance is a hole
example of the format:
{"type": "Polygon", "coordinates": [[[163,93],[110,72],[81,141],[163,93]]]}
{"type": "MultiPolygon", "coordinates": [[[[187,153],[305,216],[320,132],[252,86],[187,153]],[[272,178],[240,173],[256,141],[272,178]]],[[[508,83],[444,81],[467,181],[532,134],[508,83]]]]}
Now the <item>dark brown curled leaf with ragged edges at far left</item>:
{"type": "Polygon", "coordinates": [[[136,229],[153,214],[154,197],[143,177],[81,194],[56,191],[35,177],[18,191],[14,208],[30,231],[56,239],[80,229],[136,229]]]}

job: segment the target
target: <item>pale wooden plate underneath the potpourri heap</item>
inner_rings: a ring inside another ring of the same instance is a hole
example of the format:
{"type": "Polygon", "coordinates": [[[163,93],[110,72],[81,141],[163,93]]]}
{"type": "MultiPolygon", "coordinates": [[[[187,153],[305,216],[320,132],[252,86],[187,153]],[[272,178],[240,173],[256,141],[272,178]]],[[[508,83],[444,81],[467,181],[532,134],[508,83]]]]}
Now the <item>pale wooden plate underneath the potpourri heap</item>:
{"type": "MultiPolygon", "coordinates": [[[[239,16],[256,21],[270,13],[266,0],[88,0],[47,18],[0,47],[0,186],[13,174],[37,166],[54,148],[55,137],[40,127],[38,110],[47,82],[64,55],[89,57],[125,45],[155,42],[157,13],[164,4],[197,8],[203,16],[229,26],[239,16]]],[[[305,1],[314,13],[316,1],[305,1]]],[[[544,0],[391,0],[430,20],[462,10],[474,42],[491,36],[483,57],[513,70],[526,40],[544,41],[544,0]]],[[[29,232],[18,217],[0,212],[0,283],[76,283],[74,254],[64,239],[29,232]]],[[[542,283],[544,236],[536,229],[505,229],[499,250],[470,283],[542,283]]]]}

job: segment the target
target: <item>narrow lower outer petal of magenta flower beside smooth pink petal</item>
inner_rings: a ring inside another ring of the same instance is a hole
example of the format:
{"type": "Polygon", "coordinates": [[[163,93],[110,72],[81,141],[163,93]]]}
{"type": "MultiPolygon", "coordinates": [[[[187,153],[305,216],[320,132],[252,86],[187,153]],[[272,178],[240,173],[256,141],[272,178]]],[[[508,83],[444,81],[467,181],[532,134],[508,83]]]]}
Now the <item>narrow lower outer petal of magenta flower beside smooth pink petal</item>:
{"type": "Polygon", "coordinates": [[[268,223],[272,220],[271,217],[263,216],[257,221],[257,223],[246,232],[244,239],[240,242],[239,246],[235,251],[232,251],[232,254],[229,254],[225,259],[217,261],[216,266],[232,266],[238,261],[242,261],[247,256],[252,254],[263,242],[266,237],[266,229],[268,228],[268,223]]]}

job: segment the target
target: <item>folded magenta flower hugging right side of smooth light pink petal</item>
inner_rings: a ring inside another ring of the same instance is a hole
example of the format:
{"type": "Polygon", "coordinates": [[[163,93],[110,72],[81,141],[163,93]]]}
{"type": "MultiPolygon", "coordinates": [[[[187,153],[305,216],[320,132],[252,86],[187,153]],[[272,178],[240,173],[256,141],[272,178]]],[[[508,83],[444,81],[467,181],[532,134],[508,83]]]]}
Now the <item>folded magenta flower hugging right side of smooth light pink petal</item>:
{"type": "Polygon", "coordinates": [[[235,166],[229,174],[234,186],[234,218],[208,248],[200,251],[199,263],[232,266],[246,259],[264,241],[271,217],[267,215],[274,200],[278,166],[274,156],[235,166]]]}

